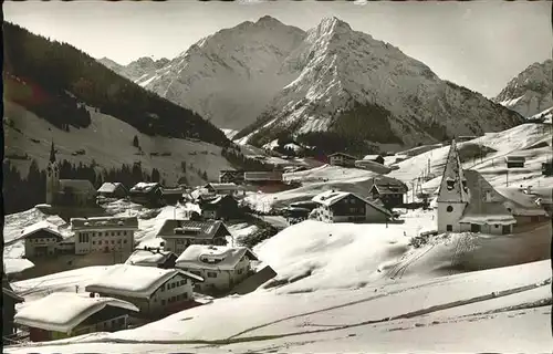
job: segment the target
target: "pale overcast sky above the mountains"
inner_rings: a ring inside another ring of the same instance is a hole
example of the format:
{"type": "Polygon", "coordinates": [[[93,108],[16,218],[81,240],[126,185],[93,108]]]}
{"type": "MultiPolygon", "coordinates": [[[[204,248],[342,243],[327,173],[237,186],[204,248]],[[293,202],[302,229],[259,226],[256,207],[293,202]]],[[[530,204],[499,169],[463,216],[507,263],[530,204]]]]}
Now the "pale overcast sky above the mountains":
{"type": "Polygon", "coordinates": [[[335,15],[398,46],[440,77],[497,95],[519,72],[552,55],[549,1],[3,2],[4,20],[126,64],[171,59],[201,38],[270,14],[307,30],[335,15]]]}

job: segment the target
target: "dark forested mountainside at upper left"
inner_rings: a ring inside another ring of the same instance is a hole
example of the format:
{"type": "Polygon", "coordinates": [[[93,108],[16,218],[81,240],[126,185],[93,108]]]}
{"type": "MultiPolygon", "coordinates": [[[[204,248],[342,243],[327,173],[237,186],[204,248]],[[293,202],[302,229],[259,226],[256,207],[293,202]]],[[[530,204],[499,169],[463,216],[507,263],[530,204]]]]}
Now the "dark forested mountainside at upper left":
{"type": "Polygon", "coordinates": [[[144,90],[69,44],[8,22],[3,34],[4,100],[59,128],[87,127],[87,105],[148,135],[230,144],[221,131],[196,113],[144,90]]]}

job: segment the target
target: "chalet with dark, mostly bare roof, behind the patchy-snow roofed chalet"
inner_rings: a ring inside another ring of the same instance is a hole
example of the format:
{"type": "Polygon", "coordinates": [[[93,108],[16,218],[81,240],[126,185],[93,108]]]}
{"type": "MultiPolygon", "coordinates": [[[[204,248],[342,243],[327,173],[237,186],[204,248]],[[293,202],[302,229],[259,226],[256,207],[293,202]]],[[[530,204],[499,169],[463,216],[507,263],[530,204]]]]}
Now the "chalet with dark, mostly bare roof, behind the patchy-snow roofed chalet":
{"type": "Polygon", "coordinates": [[[231,233],[222,221],[165,220],[157,233],[164,250],[180,254],[190,244],[226,246],[231,233]]]}

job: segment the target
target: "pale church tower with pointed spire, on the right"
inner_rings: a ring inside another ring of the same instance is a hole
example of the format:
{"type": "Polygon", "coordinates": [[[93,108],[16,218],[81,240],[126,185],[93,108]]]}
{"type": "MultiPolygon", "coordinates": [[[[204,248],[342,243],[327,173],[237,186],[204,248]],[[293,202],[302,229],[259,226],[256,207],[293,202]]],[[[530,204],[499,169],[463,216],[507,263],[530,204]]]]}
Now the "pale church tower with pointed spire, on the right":
{"type": "Polygon", "coordinates": [[[449,148],[436,201],[438,205],[438,232],[460,232],[459,220],[469,202],[469,189],[455,139],[449,148]]]}

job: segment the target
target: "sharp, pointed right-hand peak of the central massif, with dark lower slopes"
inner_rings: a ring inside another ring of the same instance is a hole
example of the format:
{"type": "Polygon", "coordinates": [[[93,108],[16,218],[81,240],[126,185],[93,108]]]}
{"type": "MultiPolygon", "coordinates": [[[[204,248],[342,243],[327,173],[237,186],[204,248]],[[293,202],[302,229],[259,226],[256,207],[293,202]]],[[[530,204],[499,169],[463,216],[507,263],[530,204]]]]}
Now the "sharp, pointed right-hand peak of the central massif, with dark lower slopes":
{"type": "Polygon", "coordinates": [[[522,122],[519,114],[440,80],[424,63],[336,18],[310,30],[286,62],[301,66],[299,77],[234,138],[253,135],[250,142],[263,145],[292,133],[332,132],[355,145],[413,146],[522,122]]]}

